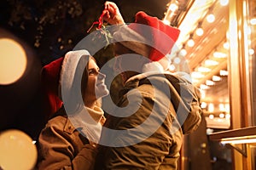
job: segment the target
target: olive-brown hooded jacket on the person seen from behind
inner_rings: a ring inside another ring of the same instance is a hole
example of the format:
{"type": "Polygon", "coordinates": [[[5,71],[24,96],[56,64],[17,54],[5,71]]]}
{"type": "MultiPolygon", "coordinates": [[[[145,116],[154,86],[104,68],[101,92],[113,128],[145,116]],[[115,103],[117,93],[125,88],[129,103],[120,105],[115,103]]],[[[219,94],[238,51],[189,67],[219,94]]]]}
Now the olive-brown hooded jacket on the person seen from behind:
{"type": "Polygon", "coordinates": [[[195,131],[201,122],[200,97],[189,82],[178,79],[137,76],[125,83],[119,102],[123,109],[107,117],[106,126],[114,131],[102,130],[105,146],[97,159],[102,167],[96,169],[177,169],[183,133],[195,131]]]}

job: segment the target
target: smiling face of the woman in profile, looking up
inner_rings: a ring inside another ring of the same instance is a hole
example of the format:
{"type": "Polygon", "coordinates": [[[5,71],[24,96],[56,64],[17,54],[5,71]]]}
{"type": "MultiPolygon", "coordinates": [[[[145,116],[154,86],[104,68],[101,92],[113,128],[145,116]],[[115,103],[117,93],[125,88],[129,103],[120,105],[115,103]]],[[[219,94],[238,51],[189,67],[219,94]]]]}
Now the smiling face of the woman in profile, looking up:
{"type": "Polygon", "coordinates": [[[87,88],[84,91],[84,101],[96,101],[108,95],[108,88],[105,84],[105,75],[99,70],[94,59],[89,59],[88,63],[88,82],[87,88]]]}

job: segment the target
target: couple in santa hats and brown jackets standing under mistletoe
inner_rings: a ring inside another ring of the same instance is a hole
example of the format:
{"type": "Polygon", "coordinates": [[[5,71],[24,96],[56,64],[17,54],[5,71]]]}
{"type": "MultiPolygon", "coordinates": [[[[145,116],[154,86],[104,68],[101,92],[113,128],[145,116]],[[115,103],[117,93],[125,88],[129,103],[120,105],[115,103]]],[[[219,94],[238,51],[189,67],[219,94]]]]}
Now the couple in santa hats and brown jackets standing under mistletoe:
{"type": "Polygon", "coordinates": [[[126,26],[111,2],[102,14],[117,25],[115,67],[124,82],[118,109],[105,119],[105,75],[86,50],[44,66],[55,114],[38,139],[38,169],[177,169],[183,134],[201,122],[197,89],[166,71],[179,31],[144,12],[126,26]]]}

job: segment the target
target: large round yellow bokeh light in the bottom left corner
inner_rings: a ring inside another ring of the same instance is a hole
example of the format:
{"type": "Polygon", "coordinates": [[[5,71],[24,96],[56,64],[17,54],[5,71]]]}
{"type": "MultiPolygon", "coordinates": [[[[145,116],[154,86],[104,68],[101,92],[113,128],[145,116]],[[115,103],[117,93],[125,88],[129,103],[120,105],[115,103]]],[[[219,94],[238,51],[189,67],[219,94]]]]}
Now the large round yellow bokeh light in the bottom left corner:
{"type": "Polygon", "coordinates": [[[37,147],[26,133],[16,129],[0,133],[0,165],[3,169],[33,169],[37,158],[37,147]]]}

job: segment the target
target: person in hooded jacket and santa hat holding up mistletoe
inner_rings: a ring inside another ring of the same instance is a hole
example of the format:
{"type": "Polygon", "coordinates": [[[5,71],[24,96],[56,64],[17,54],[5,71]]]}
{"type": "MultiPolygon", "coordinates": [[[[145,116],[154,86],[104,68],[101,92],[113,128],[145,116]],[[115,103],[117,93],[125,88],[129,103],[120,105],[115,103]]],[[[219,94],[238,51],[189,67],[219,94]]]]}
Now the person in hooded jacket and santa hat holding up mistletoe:
{"type": "Polygon", "coordinates": [[[115,3],[106,2],[104,19],[115,40],[116,65],[124,82],[118,108],[102,130],[101,169],[177,169],[183,134],[201,122],[200,98],[193,85],[166,71],[179,31],[138,12],[126,26],[115,3]]]}

